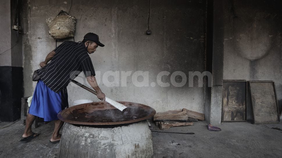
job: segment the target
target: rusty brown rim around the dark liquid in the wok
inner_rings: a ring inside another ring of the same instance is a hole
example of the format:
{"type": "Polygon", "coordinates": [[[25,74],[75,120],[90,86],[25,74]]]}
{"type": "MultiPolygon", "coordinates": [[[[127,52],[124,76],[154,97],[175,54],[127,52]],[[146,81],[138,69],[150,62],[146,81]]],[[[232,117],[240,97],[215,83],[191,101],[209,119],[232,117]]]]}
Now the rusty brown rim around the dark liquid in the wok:
{"type": "Polygon", "coordinates": [[[71,112],[73,109],[76,109],[78,107],[85,107],[85,106],[94,106],[95,109],[97,110],[101,110],[101,109],[116,109],[115,107],[113,107],[112,105],[110,105],[107,102],[93,102],[93,103],[85,103],[85,104],[79,104],[79,105],[75,105],[72,107],[69,107],[67,109],[62,110],[61,112],[58,113],[58,119],[60,119],[61,121],[67,122],[67,123],[71,123],[71,124],[76,124],[76,125],[120,125],[120,124],[127,124],[127,123],[134,123],[134,122],[139,122],[139,121],[143,121],[146,119],[149,119],[150,117],[154,116],[156,114],[156,110],[153,109],[152,107],[149,107],[147,105],[144,104],[139,104],[139,103],[133,103],[133,102],[125,102],[125,101],[117,101],[118,103],[121,103],[127,107],[129,107],[127,104],[131,105],[131,104],[138,104],[138,107],[142,107],[145,110],[151,110],[151,114],[149,114],[148,116],[139,118],[139,119],[135,119],[135,120],[130,120],[130,121],[121,121],[121,122],[99,122],[99,123],[95,123],[95,122],[79,122],[79,121],[73,121],[73,120],[69,120],[64,118],[63,116],[68,113],[71,112]],[[110,106],[109,106],[110,105],[110,106]]]}

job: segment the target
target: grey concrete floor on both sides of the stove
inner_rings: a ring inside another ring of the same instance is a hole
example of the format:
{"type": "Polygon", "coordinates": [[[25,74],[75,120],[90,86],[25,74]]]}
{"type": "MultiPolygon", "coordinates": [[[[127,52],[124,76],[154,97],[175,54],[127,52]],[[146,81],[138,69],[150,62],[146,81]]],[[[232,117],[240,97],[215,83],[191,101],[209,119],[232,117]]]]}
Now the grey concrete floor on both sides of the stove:
{"type": "MultiPolygon", "coordinates": [[[[154,123],[152,123],[153,125],[154,123]]],[[[26,144],[19,143],[24,126],[21,121],[0,123],[0,157],[57,157],[59,144],[49,144],[53,122],[40,124],[34,132],[39,137],[26,144]]],[[[282,157],[282,124],[253,125],[249,122],[222,123],[222,131],[208,131],[206,122],[192,126],[173,127],[166,132],[153,132],[155,158],[204,157],[282,157]]],[[[159,130],[154,127],[154,130],[159,130]]]]}

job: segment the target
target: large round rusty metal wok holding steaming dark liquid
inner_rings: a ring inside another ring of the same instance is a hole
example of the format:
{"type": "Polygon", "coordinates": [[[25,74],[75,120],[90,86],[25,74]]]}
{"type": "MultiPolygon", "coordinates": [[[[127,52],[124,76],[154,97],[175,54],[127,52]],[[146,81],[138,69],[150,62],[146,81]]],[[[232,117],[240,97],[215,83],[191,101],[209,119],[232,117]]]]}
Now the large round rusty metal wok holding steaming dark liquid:
{"type": "Polygon", "coordinates": [[[119,125],[146,120],[156,114],[155,109],[138,103],[118,101],[127,108],[120,111],[107,102],[85,103],[64,109],[58,118],[78,125],[119,125]]]}

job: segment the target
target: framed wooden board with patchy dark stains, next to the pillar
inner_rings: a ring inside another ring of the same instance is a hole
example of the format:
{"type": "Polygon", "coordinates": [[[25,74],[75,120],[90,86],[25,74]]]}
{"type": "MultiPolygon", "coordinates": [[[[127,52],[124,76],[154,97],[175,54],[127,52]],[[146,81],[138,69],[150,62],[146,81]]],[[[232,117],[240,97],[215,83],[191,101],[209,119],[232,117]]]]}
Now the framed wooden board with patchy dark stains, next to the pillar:
{"type": "Polygon", "coordinates": [[[222,122],[246,121],[246,80],[223,80],[222,122]]]}

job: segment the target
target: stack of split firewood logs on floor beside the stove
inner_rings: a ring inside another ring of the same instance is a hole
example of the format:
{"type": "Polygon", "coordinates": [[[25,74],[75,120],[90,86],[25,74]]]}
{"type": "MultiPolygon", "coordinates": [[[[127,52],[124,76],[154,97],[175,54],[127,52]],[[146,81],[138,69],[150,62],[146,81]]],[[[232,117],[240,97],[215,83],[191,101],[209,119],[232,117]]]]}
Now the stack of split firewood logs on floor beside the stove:
{"type": "Polygon", "coordinates": [[[205,115],[185,108],[158,112],[154,116],[154,121],[161,130],[167,130],[174,126],[193,125],[193,121],[198,122],[198,120],[204,121],[205,115]]]}

